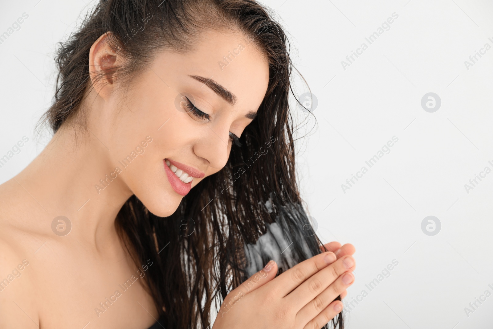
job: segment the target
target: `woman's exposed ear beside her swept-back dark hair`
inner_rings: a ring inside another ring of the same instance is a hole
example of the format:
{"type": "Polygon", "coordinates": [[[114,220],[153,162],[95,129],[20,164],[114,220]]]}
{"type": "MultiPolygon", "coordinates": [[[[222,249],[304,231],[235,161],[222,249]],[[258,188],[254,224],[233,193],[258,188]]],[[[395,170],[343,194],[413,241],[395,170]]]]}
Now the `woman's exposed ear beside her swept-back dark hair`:
{"type": "Polygon", "coordinates": [[[89,76],[96,92],[103,98],[114,88],[114,71],[121,64],[121,56],[111,46],[111,32],[99,37],[89,50],[89,76]]]}

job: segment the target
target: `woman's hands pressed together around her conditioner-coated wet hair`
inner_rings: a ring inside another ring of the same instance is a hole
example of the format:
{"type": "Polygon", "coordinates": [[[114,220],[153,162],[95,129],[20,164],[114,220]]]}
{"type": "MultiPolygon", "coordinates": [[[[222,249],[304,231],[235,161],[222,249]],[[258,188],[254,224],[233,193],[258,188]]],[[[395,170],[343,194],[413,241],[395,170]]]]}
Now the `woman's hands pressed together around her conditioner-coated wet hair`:
{"type": "Polygon", "coordinates": [[[270,261],[230,292],[212,329],[230,328],[322,328],[342,309],[334,300],[352,285],[355,268],[352,245],[325,245],[329,251],[313,256],[277,278],[277,264],[270,261]]]}

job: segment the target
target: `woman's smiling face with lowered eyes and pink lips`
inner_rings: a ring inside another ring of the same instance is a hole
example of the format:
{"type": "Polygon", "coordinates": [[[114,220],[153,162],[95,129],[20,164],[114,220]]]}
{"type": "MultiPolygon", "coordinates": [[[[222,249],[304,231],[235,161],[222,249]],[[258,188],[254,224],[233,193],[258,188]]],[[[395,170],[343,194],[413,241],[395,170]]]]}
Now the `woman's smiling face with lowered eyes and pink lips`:
{"type": "MultiPolygon", "coordinates": [[[[190,188],[224,167],[233,134],[242,135],[268,86],[267,59],[253,44],[212,30],[201,40],[186,55],[160,53],[131,82],[126,97],[99,92],[105,110],[97,120],[109,144],[108,176],[122,180],[162,217],[175,212],[190,188]],[[193,179],[178,178],[184,173],[193,179]]],[[[104,47],[95,51],[104,53],[104,47]]],[[[107,88],[126,87],[116,81],[107,88]]]]}

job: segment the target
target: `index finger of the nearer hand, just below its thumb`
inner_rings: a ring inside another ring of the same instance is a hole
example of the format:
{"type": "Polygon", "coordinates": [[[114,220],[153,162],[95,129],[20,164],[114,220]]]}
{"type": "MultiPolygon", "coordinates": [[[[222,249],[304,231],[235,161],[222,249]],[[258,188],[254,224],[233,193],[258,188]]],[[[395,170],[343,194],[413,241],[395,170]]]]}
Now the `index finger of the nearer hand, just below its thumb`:
{"type": "Polygon", "coordinates": [[[284,297],[312,275],[326,268],[329,264],[332,264],[335,260],[336,256],[332,252],[318,254],[294,265],[279,275],[276,280],[269,283],[269,285],[272,286],[271,288],[280,296],[284,297]]]}

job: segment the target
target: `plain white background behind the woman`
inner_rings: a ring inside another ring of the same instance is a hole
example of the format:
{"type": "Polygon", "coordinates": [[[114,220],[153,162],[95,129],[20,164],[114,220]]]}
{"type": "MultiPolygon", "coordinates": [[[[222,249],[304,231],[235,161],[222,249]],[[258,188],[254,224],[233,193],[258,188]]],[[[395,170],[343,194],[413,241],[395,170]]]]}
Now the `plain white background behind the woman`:
{"type": "MultiPolygon", "coordinates": [[[[289,34],[292,60],[318,105],[295,107],[298,179],[323,242],[352,243],[355,283],[346,328],[491,328],[493,295],[469,316],[486,290],[493,293],[493,173],[469,193],[464,184],[493,162],[493,49],[474,66],[464,61],[493,46],[493,4],[487,0],[265,0],[289,34]],[[369,37],[392,13],[378,39],[369,37]],[[366,43],[344,70],[341,61],[366,43]],[[441,98],[436,112],[424,94],[441,98]],[[313,128],[313,129],[312,129],[313,128]],[[392,136],[399,140],[372,168],[365,161],[392,136]],[[344,193],[341,184],[369,168],[344,193]],[[426,216],[441,230],[423,233],[426,216]],[[375,289],[395,259],[398,265],[375,289]],[[358,295],[365,290],[368,294],[358,295]],[[354,298],[354,299],[353,299],[354,298]]],[[[0,168],[0,183],[27,166],[48,141],[34,125],[54,93],[54,49],[87,10],[81,0],[1,0],[0,34],[29,18],[0,44],[0,157],[26,135],[29,142],[0,168]]],[[[89,2],[94,4],[94,1],[89,2]]],[[[307,92],[293,76],[297,96],[307,92]]],[[[346,311],[350,306],[346,306],[346,311]]]]}

